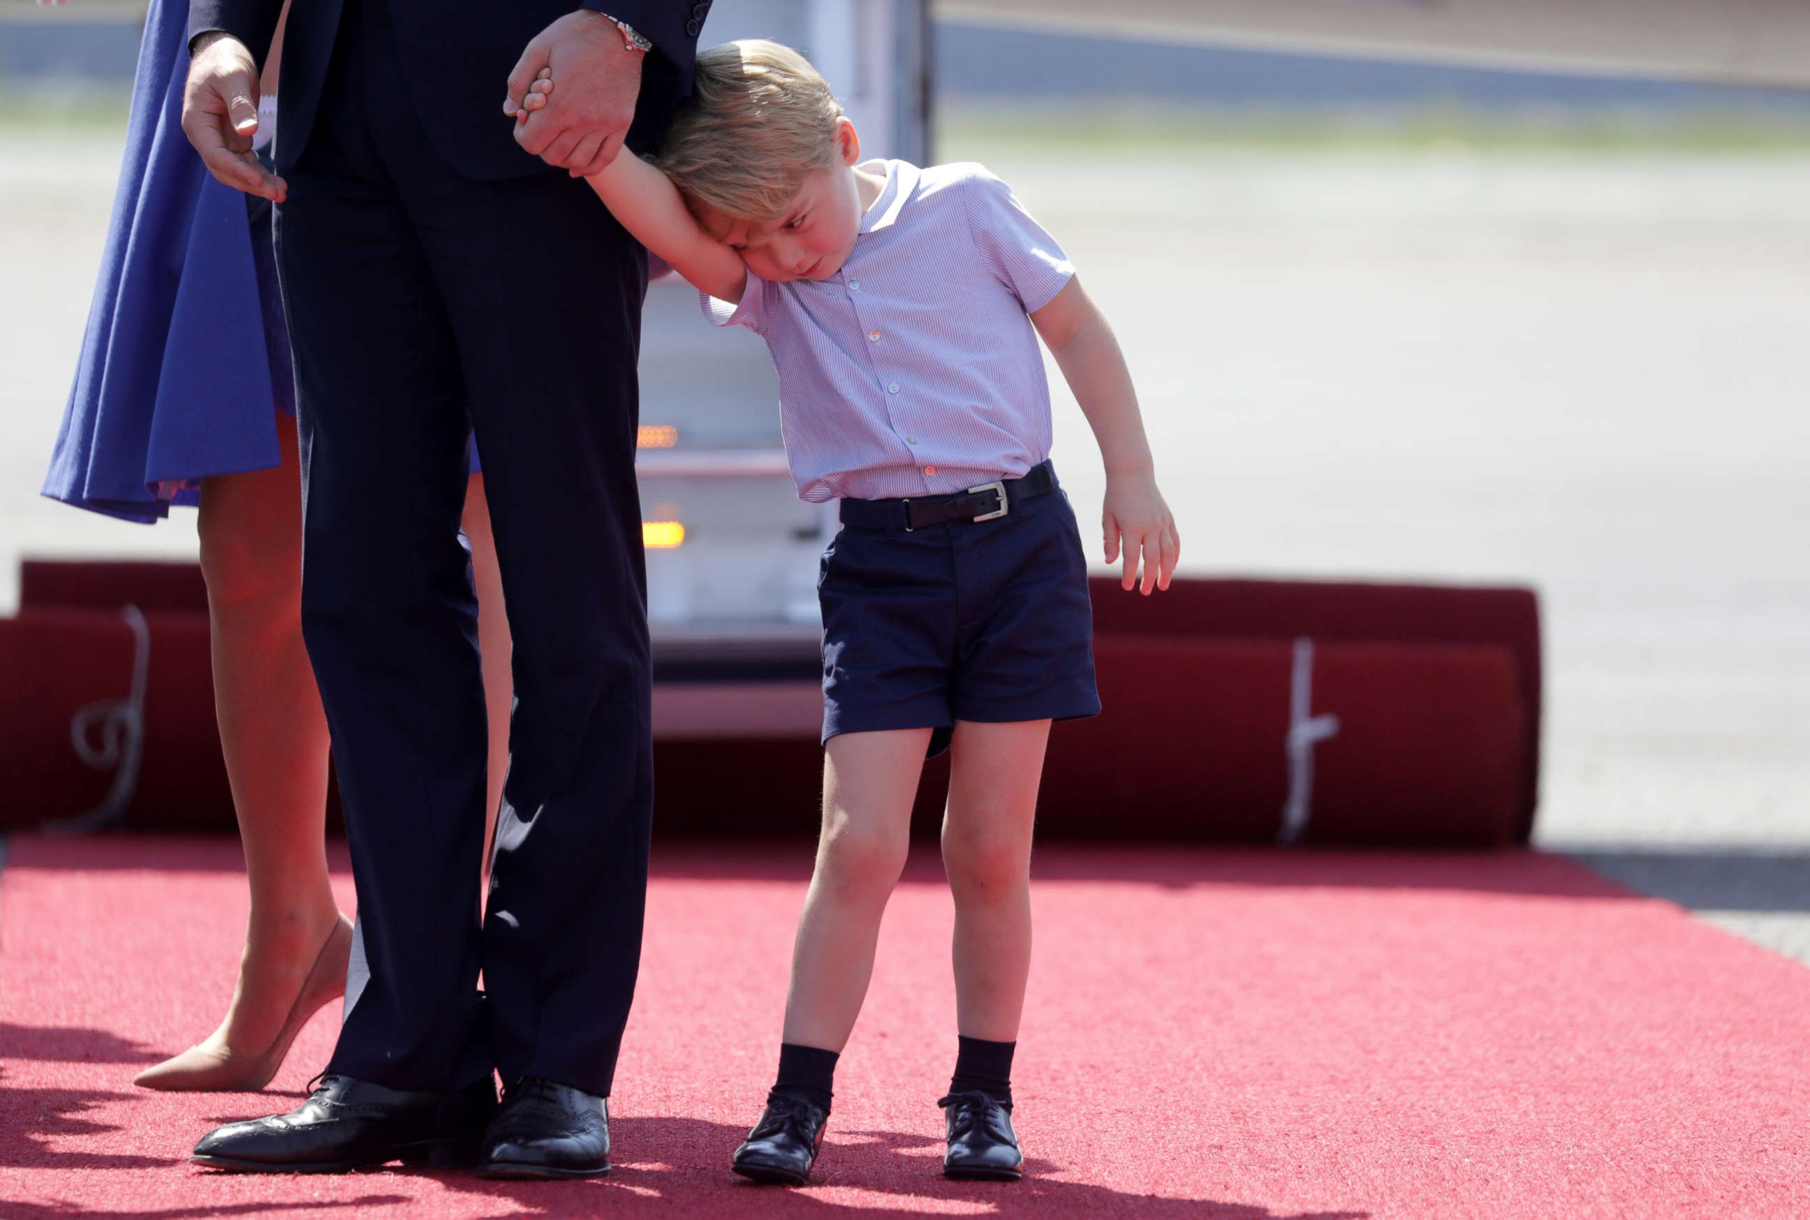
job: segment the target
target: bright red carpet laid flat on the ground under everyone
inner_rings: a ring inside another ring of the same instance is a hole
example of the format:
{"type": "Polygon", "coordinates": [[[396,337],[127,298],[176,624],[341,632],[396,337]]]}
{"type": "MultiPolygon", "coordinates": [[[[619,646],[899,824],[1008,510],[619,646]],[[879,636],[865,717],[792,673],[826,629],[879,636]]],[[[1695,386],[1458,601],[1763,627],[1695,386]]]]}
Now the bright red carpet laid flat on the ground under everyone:
{"type": "Polygon", "coordinates": [[[1810,1215],[1810,970],[1540,854],[1043,853],[1017,1186],[936,1173],[950,907],[921,860],[818,1184],[746,1186],[807,856],[657,853],[617,1171],[548,1186],[190,1168],[208,1126],[293,1104],[333,1017],[268,1095],[136,1091],[224,1005],[237,847],[14,840],[0,1218],[1810,1215]]]}

